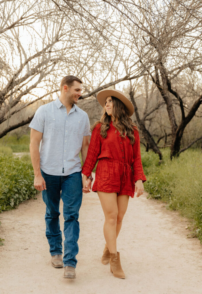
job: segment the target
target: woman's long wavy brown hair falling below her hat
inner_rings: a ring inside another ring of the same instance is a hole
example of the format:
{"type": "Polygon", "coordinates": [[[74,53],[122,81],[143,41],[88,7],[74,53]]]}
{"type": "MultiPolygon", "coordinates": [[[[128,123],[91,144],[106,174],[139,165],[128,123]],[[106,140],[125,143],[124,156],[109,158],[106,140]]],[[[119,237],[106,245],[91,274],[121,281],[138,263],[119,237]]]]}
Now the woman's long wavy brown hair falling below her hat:
{"type": "MultiPolygon", "coordinates": [[[[111,96],[111,98],[113,101],[113,126],[115,126],[115,128],[119,131],[121,137],[126,138],[126,136],[128,136],[130,139],[130,144],[134,144],[134,128],[138,131],[138,127],[136,123],[132,122],[131,118],[129,117],[128,109],[123,104],[123,102],[116,97],[111,96]]],[[[107,130],[109,129],[111,122],[111,116],[106,113],[105,105],[103,107],[102,113],[103,115],[101,116],[100,121],[96,121],[94,123],[94,125],[91,127],[91,131],[93,131],[98,123],[101,123],[100,134],[103,138],[106,138],[107,130]]]]}

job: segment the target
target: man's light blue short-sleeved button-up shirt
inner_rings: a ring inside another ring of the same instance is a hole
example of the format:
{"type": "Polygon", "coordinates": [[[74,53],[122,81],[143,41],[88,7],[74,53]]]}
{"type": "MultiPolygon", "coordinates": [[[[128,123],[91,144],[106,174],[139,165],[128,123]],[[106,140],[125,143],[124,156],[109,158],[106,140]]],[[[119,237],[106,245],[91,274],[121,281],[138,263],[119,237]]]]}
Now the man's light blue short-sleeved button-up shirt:
{"type": "Polygon", "coordinates": [[[85,111],[73,104],[67,115],[66,107],[57,98],[37,109],[29,127],[43,133],[40,166],[44,173],[67,176],[81,171],[83,137],[91,135],[85,111]]]}

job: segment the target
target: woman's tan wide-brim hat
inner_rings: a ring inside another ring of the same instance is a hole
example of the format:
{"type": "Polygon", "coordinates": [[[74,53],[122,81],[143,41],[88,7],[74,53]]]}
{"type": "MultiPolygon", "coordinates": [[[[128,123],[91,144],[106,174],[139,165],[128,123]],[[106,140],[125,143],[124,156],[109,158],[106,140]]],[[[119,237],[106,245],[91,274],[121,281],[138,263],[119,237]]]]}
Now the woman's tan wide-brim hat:
{"type": "Polygon", "coordinates": [[[129,116],[131,116],[134,113],[133,104],[131,103],[130,100],[128,100],[126,95],[124,95],[124,93],[119,90],[101,90],[97,94],[97,100],[102,107],[104,107],[106,98],[109,96],[113,96],[113,97],[116,97],[119,100],[121,100],[123,102],[123,104],[125,104],[125,106],[128,108],[129,116]]]}

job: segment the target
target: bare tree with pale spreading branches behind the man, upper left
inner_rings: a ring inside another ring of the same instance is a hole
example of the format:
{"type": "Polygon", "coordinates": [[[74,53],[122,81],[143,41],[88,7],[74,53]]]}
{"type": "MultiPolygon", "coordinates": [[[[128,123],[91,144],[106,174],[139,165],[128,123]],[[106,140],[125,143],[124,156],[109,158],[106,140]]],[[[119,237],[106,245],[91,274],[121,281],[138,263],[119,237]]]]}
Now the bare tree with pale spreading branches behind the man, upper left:
{"type": "Polygon", "coordinates": [[[79,76],[92,89],[95,76],[107,75],[111,57],[116,59],[115,46],[106,46],[83,12],[77,18],[75,5],[64,14],[48,0],[1,1],[0,14],[0,138],[31,121],[34,113],[12,118],[58,92],[61,75],[79,76]]]}

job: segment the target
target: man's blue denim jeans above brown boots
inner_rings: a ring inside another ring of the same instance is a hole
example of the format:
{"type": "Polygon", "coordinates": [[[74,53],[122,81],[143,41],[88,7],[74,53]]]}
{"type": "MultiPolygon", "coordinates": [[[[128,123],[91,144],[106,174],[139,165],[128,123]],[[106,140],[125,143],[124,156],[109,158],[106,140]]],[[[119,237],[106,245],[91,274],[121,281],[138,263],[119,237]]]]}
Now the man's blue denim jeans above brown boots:
{"type": "Polygon", "coordinates": [[[41,170],[46,182],[46,190],[42,197],[46,204],[46,237],[50,245],[51,255],[62,255],[62,232],[59,223],[60,198],[63,201],[64,216],[64,267],[76,268],[76,255],[79,252],[79,209],[82,202],[81,172],[69,176],[52,176],[41,170]]]}

